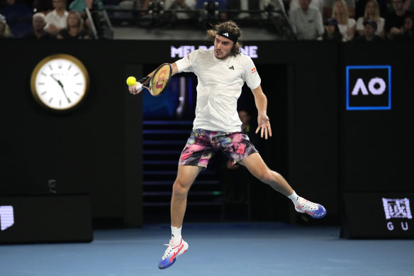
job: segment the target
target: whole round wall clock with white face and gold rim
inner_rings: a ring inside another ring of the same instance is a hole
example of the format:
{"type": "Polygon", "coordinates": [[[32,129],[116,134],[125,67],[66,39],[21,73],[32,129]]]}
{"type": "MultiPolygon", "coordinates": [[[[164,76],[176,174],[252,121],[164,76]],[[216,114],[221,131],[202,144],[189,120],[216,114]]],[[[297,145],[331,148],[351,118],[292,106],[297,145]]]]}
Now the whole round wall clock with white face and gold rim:
{"type": "Polygon", "coordinates": [[[69,111],[79,106],[89,89],[89,74],[76,57],[56,54],[40,60],[30,78],[36,101],[53,111],[69,111]]]}

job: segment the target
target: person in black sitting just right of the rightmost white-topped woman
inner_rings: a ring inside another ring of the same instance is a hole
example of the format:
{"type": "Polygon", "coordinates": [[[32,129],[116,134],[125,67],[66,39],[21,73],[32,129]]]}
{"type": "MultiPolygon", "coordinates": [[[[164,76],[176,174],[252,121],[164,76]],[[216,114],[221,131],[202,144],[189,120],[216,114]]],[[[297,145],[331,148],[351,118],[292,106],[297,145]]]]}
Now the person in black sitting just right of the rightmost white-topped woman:
{"type": "Polygon", "coordinates": [[[388,40],[394,40],[396,35],[401,33],[401,27],[404,25],[405,17],[413,15],[412,11],[404,8],[404,2],[410,0],[392,0],[393,11],[385,17],[385,34],[388,40]]]}

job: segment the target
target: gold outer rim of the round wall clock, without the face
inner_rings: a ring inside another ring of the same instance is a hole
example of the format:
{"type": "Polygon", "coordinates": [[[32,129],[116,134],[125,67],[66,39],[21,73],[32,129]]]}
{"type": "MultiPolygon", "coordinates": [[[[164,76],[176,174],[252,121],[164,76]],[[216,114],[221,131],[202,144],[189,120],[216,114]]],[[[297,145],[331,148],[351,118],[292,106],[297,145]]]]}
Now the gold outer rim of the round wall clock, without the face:
{"type": "Polygon", "coordinates": [[[33,69],[32,75],[30,77],[30,90],[31,90],[32,95],[35,98],[35,100],[41,106],[45,107],[46,109],[49,109],[49,110],[52,110],[52,111],[57,111],[57,112],[70,111],[72,109],[77,108],[77,106],[79,106],[79,104],[81,104],[82,101],[84,101],[84,99],[86,98],[86,94],[88,94],[88,92],[89,92],[89,73],[86,70],[86,67],[82,63],[82,61],[80,61],[77,57],[74,57],[73,55],[64,54],[64,53],[48,55],[47,57],[43,58],[43,60],[40,60],[40,62],[38,62],[38,64],[35,66],[35,69],[33,69]],[[85,84],[86,84],[85,89],[84,89],[84,94],[82,94],[81,99],[79,101],[77,101],[77,103],[74,104],[73,106],[69,106],[69,107],[66,107],[66,108],[63,108],[63,109],[57,109],[57,108],[54,108],[52,106],[48,106],[47,104],[45,104],[45,102],[40,99],[40,97],[38,95],[38,91],[36,89],[36,77],[38,76],[38,74],[40,72],[40,69],[47,62],[50,62],[51,60],[57,60],[57,59],[69,60],[70,62],[73,62],[75,65],[77,65],[79,67],[79,69],[81,70],[82,74],[84,75],[85,84]]]}

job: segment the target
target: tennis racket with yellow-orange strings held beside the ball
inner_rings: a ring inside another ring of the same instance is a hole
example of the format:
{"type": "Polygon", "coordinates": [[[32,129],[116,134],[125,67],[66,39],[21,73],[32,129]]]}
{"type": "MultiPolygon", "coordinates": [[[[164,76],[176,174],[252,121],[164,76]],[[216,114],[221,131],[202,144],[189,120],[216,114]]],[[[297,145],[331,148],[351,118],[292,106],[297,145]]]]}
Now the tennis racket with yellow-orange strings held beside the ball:
{"type": "Polygon", "coordinates": [[[164,63],[155,70],[150,79],[135,87],[135,90],[147,89],[152,96],[160,96],[167,88],[172,77],[172,66],[164,63]]]}

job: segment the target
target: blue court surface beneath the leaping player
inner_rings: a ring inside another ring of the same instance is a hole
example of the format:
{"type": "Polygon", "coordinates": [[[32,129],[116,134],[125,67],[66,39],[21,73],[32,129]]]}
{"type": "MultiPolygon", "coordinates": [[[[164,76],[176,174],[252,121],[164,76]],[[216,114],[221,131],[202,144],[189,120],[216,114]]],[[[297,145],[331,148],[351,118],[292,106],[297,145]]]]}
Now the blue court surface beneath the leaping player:
{"type": "Polygon", "coordinates": [[[413,240],[347,240],[339,233],[284,223],[188,223],[189,250],[159,270],[169,225],[95,230],[91,243],[0,245],[0,275],[414,275],[413,240]]]}

